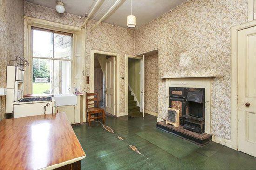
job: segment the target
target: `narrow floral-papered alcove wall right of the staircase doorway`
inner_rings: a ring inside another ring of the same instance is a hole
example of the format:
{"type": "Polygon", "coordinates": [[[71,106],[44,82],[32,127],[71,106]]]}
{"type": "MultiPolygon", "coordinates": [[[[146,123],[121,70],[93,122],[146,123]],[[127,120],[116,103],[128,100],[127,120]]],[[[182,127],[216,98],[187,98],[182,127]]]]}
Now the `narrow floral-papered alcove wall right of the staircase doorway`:
{"type": "Polygon", "coordinates": [[[145,57],[145,109],[158,112],[158,54],[145,57]]]}

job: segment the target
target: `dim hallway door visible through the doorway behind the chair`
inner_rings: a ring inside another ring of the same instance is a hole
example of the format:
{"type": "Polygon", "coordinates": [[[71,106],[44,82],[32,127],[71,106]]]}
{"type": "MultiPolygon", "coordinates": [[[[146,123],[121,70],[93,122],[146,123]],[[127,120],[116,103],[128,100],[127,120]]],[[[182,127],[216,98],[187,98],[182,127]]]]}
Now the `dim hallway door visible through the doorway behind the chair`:
{"type": "Polygon", "coordinates": [[[98,92],[99,101],[103,99],[103,73],[100,68],[94,68],[94,93],[98,92]]]}

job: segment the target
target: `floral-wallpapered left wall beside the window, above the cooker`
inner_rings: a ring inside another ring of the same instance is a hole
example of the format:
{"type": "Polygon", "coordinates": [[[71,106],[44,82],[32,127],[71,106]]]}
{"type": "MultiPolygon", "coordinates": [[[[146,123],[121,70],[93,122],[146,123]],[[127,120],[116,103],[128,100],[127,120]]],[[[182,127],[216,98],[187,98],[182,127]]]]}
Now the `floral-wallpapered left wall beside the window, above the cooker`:
{"type": "MultiPolygon", "coordinates": [[[[23,57],[24,1],[0,0],[0,88],[6,87],[7,61],[23,57]]],[[[5,118],[5,96],[0,99],[0,121],[5,118]]]]}

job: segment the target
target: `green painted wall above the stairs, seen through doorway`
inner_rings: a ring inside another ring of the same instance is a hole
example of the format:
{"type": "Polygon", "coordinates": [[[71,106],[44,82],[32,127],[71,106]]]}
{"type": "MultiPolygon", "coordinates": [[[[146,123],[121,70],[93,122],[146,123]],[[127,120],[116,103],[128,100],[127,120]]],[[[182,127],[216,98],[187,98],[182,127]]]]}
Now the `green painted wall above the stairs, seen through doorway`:
{"type": "Polygon", "coordinates": [[[137,100],[141,99],[141,61],[128,58],[128,83],[132,88],[137,100]]]}

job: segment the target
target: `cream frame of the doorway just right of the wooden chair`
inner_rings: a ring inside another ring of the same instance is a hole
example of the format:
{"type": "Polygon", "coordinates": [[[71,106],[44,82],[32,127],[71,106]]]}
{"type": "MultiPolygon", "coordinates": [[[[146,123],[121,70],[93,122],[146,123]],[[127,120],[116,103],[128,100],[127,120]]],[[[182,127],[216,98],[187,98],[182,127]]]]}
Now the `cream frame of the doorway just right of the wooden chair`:
{"type": "Polygon", "coordinates": [[[115,98],[114,98],[114,115],[119,117],[120,115],[120,54],[107,51],[90,50],[91,62],[90,62],[90,91],[94,91],[94,54],[104,54],[115,57],[115,98]]]}

